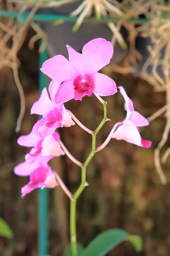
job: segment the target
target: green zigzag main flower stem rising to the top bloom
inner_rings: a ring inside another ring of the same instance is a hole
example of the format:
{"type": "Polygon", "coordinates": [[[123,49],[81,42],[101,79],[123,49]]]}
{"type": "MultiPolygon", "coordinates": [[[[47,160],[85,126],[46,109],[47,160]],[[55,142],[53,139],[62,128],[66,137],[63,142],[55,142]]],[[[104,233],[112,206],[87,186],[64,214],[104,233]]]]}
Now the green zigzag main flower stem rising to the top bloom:
{"type": "Polygon", "coordinates": [[[103,109],[104,109],[104,117],[102,122],[99,124],[99,126],[96,128],[94,131],[94,134],[92,134],[92,148],[91,152],[88,155],[87,159],[85,160],[83,166],[82,166],[82,179],[81,179],[81,184],[77,191],[74,193],[73,196],[73,201],[71,201],[71,209],[70,209],[70,235],[71,235],[71,252],[72,256],[78,256],[77,253],[77,234],[76,234],[76,202],[79,196],[81,195],[82,191],[85,189],[85,186],[88,186],[88,183],[86,182],[86,167],[90,163],[92,157],[95,154],[96,151],[96,135],[102,128],[102,126],[107,122],[107,109],[106,109],[106,104],[102,98],[97,96],[99,101],[103,104],[103,109]]]}

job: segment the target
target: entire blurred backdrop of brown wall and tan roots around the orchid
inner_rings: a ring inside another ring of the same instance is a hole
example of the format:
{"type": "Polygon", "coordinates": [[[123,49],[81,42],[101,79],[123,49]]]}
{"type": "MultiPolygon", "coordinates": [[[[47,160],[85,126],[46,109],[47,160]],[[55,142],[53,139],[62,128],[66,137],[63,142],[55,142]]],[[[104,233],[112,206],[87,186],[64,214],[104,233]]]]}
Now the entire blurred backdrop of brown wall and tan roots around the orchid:
{"type": "MultiPolygon", "coordinates": [[[[90,20],[92,23],[79,24],[76,33],[71,31],[75,22],[64,22],[63,17],[49,23],[21,15],[32,10],[32,15],[69,15],[81,3],[76,1],[69,6],[70,3],[62,5],[62,1],[0,1],[0,217],[14,233],[12,239],[0,237],[0,256],[37,256],[38,193],[33,191],[21,198],[20,189],[28,178],[14,175],[13,169],[24,161],[29,150],[17,145],[17,138],[28,134],[37,121],[30,109],[40,95],[40,52],[47,47],[49,57],[68,57],[66,44],[81,52],[85,43],[97,37],[114,45],[111,65],[101,72],[112,77],[117,86],[123,86],[136,111],[148,117],[150,125],[140,131],[144,139],[152,141],[152,147],[111,140],[94,156],[87,168],[89,186],[77,204],[78,241],[86,246],[103,230],[120,228],[141,236],[143,251],[137,254],[130,244],[121,244],[109,256],[169,256],[169,2],[114,0],[110,3],[116,8],[114,12],[110,8],[101,16],[107,15],[115,23],[109,19],[104,23],[90,20]],[[18,15],[4,17],[3,11],[18,15]],[[23,99],[20,86],[26,111],[16,133],[20,94],[23,99]],[[162,171],[167,179],[165,185],[159,177],[162,171]]],[[[95,3],[98,2],[94,1],[94,9],[95,3]]],[[[111,121],[97,135],[97,145],[105,140],[115,122],[125,118],[124,100],[119,93],[105,100],[111,121]]],[[[82,102],[72,100],[65,106],[92,130],[103,118],[102,104],[95,96],[86,96],[82,102]]],[[[91,150],[91,136],[78,125],[58,130],[71,154],[83,162],[91,150]]],[[[74,193],[80,184],[79,167],[66,156],[51,160],[51,166],[74,193]]],[[[48,189],[48,222],[49,254],[60,256],[69,242],[69,200],[59,187],[48,189]]]]}

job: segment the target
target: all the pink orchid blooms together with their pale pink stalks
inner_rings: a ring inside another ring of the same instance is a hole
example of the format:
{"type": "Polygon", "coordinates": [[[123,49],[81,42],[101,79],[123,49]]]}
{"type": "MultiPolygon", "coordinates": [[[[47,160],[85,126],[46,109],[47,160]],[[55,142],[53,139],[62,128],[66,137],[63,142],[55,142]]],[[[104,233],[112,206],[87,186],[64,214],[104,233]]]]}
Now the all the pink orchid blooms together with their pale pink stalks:
{"type": "MultiPolygon", "coordinates": [[[[67,154],[74,163],[82,166],[82,163],[67,151],[56,129],[75,125],[75,121],[85,131],[91,134],[94,132],[85,128],[70,111],[66,110],[64,103],[71,99],[82,100],[82,97],[91,96],[92,93],[100,98],[99,96],[109,96],[117,92],[115,82],[108,76],[98,73],[102,67],[109,64],[113,56],[113,47],[109,41],[96,38],[85,44],[82,54],[71,46],[67,46],[67,49],[69,61],[62,55],[57,55],[42,65],[41,71],[52,79],[48,88],[50,97],[44,88],[40,99],[31,108],[31,114],[41,115],[42,118],[37,121],[30,134],[20,136],[17,141],[19,145],[32,147],[25,156],[25,162],[14,168],[15,174],[30,178],[29,183],[21,189],[23,196],[37,188],[54,188],[58,184],[63,187],[57,173],[48,165],[53,157],[67,154]]],[[[106,141],[96,148],[96,151],[104,148],[111,138],[142,147],[151,145],[150,141],[143,140],[139,134],[139,127],[149,123],[134,111],[133,103],[123,87],[119,87],[119,91],[125,99],[126,118],[114,125],[106,141]]]]}

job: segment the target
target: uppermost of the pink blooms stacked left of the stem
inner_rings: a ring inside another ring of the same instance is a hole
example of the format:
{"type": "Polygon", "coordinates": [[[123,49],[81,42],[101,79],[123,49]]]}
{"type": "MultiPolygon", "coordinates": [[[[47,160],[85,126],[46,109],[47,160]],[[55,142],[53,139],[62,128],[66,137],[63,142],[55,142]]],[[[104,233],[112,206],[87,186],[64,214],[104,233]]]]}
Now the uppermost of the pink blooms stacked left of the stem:
{"type": "Polygon", "coordinates": [[[54,102],[54,88],[56,86],[58,86],[57,83],[51,81],[49,85],[51,100],[49,99],[47,89],[44,88],[40,99],[31,108],[31,114],[43,116],[33,127],[33,133],[41,138],[53,134],[59,127],[75,125],[64,104],[56,105],[54,102]]]}

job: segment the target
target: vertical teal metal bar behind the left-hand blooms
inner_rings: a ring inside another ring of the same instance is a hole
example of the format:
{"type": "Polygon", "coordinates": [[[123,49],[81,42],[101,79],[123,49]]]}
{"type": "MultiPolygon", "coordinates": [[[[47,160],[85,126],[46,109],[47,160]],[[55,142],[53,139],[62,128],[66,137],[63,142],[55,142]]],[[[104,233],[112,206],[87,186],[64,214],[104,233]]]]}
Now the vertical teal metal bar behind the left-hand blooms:
{"type": "MultiPolygon", "coordinates": [[[[47,57],[47,49],[45,49],[39,55],[39,67],[42,67],[47,57]]],[[[39,70],[40,92],[47,86],[47,82],[47,76],[39,70]]],[[[45,256],[48,254],[48,189],[38,190],[38,225],[38,256],[45,256]]]]}

